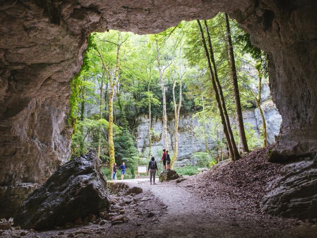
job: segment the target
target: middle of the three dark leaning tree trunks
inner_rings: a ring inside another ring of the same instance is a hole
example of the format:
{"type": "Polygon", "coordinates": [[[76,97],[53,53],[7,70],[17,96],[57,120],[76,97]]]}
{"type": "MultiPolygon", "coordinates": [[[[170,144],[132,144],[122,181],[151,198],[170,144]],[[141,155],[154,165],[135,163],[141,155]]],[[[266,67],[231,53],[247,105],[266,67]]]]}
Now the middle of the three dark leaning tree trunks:
{"type": "Polygon", "coordinates": [[[219,78],[218,78],[218,74],[217,74],[217,67],[216,67],[216,64],[215,64],[214,56],[213,56],[213,50],[212,50],[212,45],[211,45],[211,37],[210,37],[210,34],[209,34],[207,21],[205,20],[204,23],[205,23],[207,39],[208,39],[208,44],[209,44],[210,59],[211,59],[211,62],[212,62],[212,65],[213,65],[213,69],[214,69],[214,80],[215,80],[216,88],[217,88],[217,91],[218,91],[218,94],[219,94],[220,104],[221,104],[221,107],[222,107],[222,110],[223,110],[223,116],[224,116],[224,120],[225,120],[225,123],[226,123],[226,126],[227,126],[229,139],[230,139],[229,141],[227,141],[229,143],[228,144],[228,148],[229,148],[230,155],[232,156],[232,159],[233,160],[238,160],[240,158],[240,155],[239,155],[239,151],[238,151],[238,148],[237,148],[237,145],[235,143],[234,136],[233,136],[233,133],[232,133],[231,124],[230,124],[229,116],[228,116],[228,113],[227,113],[225,100],[224,100],[224,97],[223,97],[222,87],[221,87],[221,84],[220,84],[220,81],[219,81],[219,78]],[[231,146],[231,150],[230,150],[230,146],[231,146]]]}

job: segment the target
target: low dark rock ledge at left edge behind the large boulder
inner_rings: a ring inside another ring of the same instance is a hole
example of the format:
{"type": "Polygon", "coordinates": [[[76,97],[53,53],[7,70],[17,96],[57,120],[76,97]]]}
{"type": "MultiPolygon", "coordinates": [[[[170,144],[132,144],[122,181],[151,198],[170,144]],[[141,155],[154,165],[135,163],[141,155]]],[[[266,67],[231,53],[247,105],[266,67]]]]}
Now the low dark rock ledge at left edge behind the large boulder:
{"type": "Polygon", "coordinates": [[[0,186],[0,217],[13,217],[27,196],[37,187],[38,183],[21,183],[0,186]]]}

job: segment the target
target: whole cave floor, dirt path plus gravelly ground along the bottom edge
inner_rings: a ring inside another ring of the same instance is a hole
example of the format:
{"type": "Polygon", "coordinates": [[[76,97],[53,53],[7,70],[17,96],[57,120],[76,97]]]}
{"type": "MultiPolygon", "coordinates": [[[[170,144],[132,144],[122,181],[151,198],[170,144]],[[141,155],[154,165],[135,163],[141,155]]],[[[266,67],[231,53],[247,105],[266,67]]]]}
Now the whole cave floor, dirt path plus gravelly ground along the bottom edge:
{"type": "MultiPolygon", "coordinates": [[[[115,182],[122,182],[117,180],[115,182]]],[[[186,182],[157,181],[150,185],[149,179],[128,179],[129,186],[143,188],[139,194],[147,198],[141,203],[149,211],[159,211],[154,217],[135,220],[130,211],[128,223],[111,226],[87,225],[61,231],[33,232],[25,237],[66,238],[316,238],[317,225],[293,219],[282,219],[260,214],[232,204],[230,197],[204,199],[189,190],[186,182]],[[151,199],[150,199],[151,198],[151,199]],[[167,208],[165,208],[167,205],[167,208]],[[234,205],[234,206],[232,206],[234,205]],[[161,208],[164,209],[161,209],[161,208]],[[84,231],[84,232],[81,232],[84,231]]],[[[204,189],[201,187],[200,189],[204,189]]],[[[129,210],[127,210],[129,213],[129,210]]],[[[14,233],[11,233],[13,235],[14,233]]],[[[17,233],[15,233],[18,235],[17,233]]],[[[10,236],[21,237],[21,236],[10,236]]]]}

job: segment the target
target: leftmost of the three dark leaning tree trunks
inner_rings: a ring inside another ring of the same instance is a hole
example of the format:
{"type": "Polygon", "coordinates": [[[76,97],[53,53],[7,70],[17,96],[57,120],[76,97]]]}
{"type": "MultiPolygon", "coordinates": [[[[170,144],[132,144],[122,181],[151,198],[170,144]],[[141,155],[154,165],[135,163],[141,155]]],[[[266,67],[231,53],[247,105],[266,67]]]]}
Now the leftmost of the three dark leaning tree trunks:
{"type": "MultiPolygon", "coordinates": [[[[202,40],[203,47],[204,47],[205,54],[206,54],[206,59],[207,59],[207,63],[208,63],[208,69],[209,69],[209,73],[210,73],[210,76],[211,76],[212,87],[213,87],[213,90],[214,90],[214,95],[215,95],[215,98],[216,98],[216,102],[217,102],[217,106],[218,106],[218,110],[219,110],[219,115],[220,115],[220,118],[221,118],[223,132],[224,132],[226,140],[227,140],[229,153],[230,153],[230,155],[234,155],[233,154],[233,150],[232,150],[230,136],[229,136],[229,133],[228,133],[227,124],[226,124],[226,121],[225,121],[225,118],[224,118],[224,114],[223,114],[223,110],[222,110],[222,106],[221,106],[221,102],[220,102],[219,92],[218,92],[218,89],[217,89],[217,85],[216,85],[216,82],[215,82],[215,79],[214,79],[213,70],[212,70],[212,67],[211,67],[211,60],[210,60],[209,52],[208,52],[207,45],[206,45],[204,31],[203,31],[202,25],[200,23],[200,20],[197,20],[197,23],[198,23],[198,26],[199,26],[201,40],[202,40]]],[[[233,158],[233,159],[235,159],[235,158],[233,158]]]]}

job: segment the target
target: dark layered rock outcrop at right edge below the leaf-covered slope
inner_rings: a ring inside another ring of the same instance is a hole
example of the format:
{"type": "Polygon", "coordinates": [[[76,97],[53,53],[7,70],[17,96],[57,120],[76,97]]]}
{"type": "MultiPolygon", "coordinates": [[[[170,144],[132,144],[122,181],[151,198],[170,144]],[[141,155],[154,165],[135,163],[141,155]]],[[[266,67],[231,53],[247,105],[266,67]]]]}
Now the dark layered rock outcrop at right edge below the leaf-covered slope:
{"type": "Polygon", "coordinates": [[[317,219],[317,160],[286,165],[285,176],[261,201],[262,211],[282,217],[317,219]]]}

